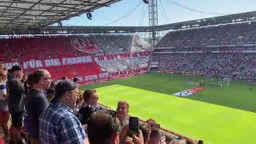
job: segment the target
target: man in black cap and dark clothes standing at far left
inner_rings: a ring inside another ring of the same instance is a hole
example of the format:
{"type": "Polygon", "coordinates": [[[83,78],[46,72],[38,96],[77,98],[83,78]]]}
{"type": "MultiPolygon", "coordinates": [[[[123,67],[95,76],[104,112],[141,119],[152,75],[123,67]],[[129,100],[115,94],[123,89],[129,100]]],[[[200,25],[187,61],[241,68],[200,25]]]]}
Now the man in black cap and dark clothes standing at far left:
{"type": "Polygon", "coordinates": [[[10,141],[14,144],[17,144],[22,140],[20,130],[25,115],[25,107],[22,100],[24,99],[25,89],[21,82],[22,77],[22,68],[20,66],[13,66],[10,69],[10,75],[6,82],[7,101],[12,119],[12,124],[10,126],[10,141]]]}

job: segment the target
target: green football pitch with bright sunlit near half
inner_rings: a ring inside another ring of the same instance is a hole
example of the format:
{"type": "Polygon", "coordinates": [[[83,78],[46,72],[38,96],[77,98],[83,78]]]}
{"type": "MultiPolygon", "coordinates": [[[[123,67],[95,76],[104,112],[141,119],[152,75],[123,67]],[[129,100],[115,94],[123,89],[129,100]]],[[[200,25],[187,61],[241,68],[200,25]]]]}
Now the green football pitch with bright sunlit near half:
{"type": "Polygon", "coordinates": [[[216,144],[256,142],[255,87],[234,81],[223,90],[206,88],[186,98],[172,96],[193,87],[184,83],[188,78],[209,79],[150,73],[81,88],[97,89],[99,101],[114,110],[119,100],[126,100],[130,115],[154,118],[162,127],[195,140],[216,144]]]}

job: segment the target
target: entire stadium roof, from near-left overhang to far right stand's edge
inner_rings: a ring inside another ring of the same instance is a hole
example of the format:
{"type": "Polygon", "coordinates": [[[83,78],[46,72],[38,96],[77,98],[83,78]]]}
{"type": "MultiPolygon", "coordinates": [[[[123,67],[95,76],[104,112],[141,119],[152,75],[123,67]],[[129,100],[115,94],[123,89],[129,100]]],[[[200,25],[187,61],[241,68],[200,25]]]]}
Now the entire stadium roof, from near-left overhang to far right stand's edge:
{"type": "Polygon", "coordinates": [[[121,0],[0,0],[0,34],[111,34],[255,22],[256,11],[162,26],[50,26],[121,0]],[[47,1],[47,2],[46,2],[47,1]],[[52,1],[52,2],[51,2],[52,1]],[[54,1],[54,2],[53,2],[54,1]],[[9,4],[9,5],[7,5],[9,4]],[[4,6],[6,5],[6,6],[4,6]],[[19,7],[19,8],[18,8],[19,7]],[[26,7],[26,8],[21,8],[26,7]],[[16,14],[18,13],[18,14],[16,14]]]}

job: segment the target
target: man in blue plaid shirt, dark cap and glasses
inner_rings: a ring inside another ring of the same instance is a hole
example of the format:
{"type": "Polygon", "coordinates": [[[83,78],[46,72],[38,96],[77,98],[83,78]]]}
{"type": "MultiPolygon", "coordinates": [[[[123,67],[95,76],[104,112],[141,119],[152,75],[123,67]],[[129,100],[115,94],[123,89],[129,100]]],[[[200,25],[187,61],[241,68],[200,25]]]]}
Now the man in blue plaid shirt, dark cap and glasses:
{"type": "Polygon", "coordinates": [[[39,117],[39,139],[43,144],[85,143],[86,133],[72,108],[79,97],[76,83],[58,82],[50,106],[39,117]]]}

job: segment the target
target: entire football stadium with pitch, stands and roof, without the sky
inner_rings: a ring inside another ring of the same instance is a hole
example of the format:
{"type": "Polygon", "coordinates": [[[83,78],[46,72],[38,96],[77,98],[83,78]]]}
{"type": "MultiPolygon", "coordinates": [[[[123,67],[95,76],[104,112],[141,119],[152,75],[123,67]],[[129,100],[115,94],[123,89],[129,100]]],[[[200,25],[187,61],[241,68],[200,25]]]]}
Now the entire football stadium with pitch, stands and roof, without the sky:
{"type": "MultiPolygon", "coordinates": [[[[49,80],[50,86],[75,79],[81,92],[81,102],[76,99],[76,106],[79,102],[81,106],[83,101],[86,103],[86,90],[97,91],[98,106],[104,110],[118,113],[119,102],[129,103],[127,118],[137,117],[140,125],[146,126],[151,126],[151,119],[160,126],[157,130],[151,127],[149,142],[144,138],[141,143],[150,144],[153,131],[161,138],[151,142],[155,144],[256,142],[256,11],[158,25],[158,1],[143,0],[140,4],[148,6],[149,26],[62,26],[62,21],[81,14],[86,14],[90,21],[94,10],[111,9],[119,2],[122,1],[0,2],[0,84],[7,87],[4,94],[1,86],[0,107],[2,110],[3,102],[8,103],[7,128],[14,125],[14,114],[17,114],[9,101],[18,102],[20,109],[23,97],[24,101],[30,98],[27,96],[30,91],[17,98],[11,94],[16,85],[10,85],[10,77],[22,71],[22,78],[14,77],[26,87],[29,75],[33,75],[33,86],[29,83],[31,90],[40,86],[40,82],[45,86],[44,80],[49,80]],[[42,76],[34,82],[35,71],[42,69],[50,77],[42,76]],[[8,80],[4,82],[2,78],[7,76],[7,70],[8,80]]],[[[54,86],[52,99],[58,96],[58,84],[56,91],[54,86]]],[[[49,90],[48,87],[42,93],[49,90]]],[[[25,102],[22,109],[27,114],[23,116],[29,117],[30,109],[26,106],[30,105],[25,102]]],[[[33,106],[32,109],[40,107],[33,106]]],[[[33,139],[33,129],[31,140],[25,122],[22,123],[18,126],[22,143],[73,143],[62,139],[43,141],[41,119],[38,141],[33,139]]],[[[83,120],[80,125],[84,126],[83,120]]],[[[10,137],[6,137],[4,126],[0,127],[0,144],[15,143],[11,131],[10,137]]],[[[91,130],[90,121],[88,130],[91,130]]],[[[122,131],[119,133],[120,143],[126,143],[122,142],[122,131]]],[[[94,143],[91,133],[86,136],[94,143]]],[[[74,143],[81,142],[76,139],[74,143]]]]}

